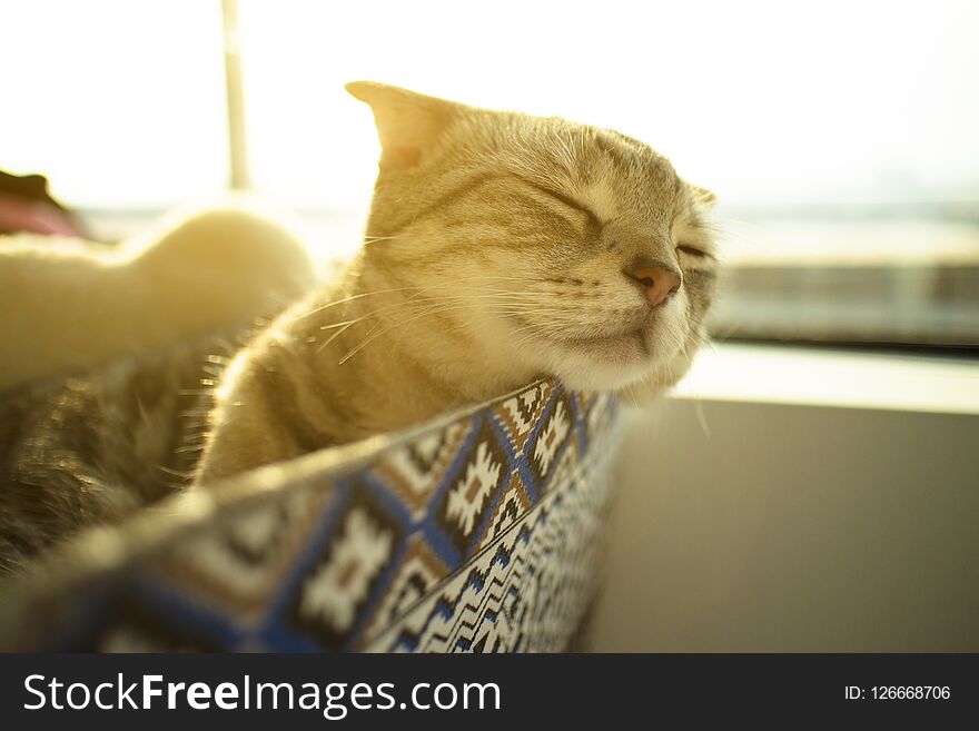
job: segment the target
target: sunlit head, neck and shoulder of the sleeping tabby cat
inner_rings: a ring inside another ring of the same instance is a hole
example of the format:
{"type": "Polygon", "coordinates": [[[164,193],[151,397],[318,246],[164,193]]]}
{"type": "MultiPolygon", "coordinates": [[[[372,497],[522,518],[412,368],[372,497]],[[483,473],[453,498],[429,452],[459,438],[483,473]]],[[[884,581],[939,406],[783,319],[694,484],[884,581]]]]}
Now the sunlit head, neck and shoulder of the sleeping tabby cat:
{"type": "Polygon", "coordinates": [[[635,399],[685,373],[713,296],[712,194],[611,130],[347,89],[382,148],[365,246],[235,359],[197,482],[541,376],[635,399]]]}

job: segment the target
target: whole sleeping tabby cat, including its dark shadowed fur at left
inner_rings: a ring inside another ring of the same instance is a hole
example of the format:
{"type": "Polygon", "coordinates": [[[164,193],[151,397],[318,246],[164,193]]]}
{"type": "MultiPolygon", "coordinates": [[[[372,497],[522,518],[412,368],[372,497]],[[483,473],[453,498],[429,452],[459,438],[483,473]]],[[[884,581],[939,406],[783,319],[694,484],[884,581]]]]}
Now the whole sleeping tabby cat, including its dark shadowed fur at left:
{"type": "Polygon", "coordinates": [[[612,130],[375,82],[347,89],[372,108],[382,148],[359,253],[189,407],[178,394],[207,338],[8,404],[0,480],[16,488],[0,483],[0,571],[168,491],[538,377],[633,401],[685,373],[716,276],[712,194],[612,130]],[[205,419],[199,460],[181,411],[205,419]],[[52,419],[61,427],[44,428],[52,419]]]}

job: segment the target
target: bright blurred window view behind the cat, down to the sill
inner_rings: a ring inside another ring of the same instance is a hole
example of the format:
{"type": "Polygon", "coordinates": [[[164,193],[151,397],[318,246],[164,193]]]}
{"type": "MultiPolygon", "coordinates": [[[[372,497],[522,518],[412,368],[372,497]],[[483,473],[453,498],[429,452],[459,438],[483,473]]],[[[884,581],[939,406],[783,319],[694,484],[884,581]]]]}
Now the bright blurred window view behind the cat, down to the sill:
{"type": "Polygon", "coordinates": [[[722,337],[979,345],[979,6],[0,4],[0,169],[112,239],[233,185],[358,243],[367,78],[560,115],[711,188],[722,337]]]}

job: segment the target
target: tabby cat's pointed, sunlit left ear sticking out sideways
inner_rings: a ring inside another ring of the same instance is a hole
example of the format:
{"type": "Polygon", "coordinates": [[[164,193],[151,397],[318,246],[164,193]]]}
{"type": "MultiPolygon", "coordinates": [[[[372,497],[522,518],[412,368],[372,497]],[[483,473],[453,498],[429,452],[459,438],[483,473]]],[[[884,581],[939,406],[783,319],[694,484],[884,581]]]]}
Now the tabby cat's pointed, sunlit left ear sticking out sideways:
{"type": "Polygon", "coordinates": [[[417,165],[462,108],[376,81],[352,81],[346,89],[374,111],[383,168],[417,165]]]}

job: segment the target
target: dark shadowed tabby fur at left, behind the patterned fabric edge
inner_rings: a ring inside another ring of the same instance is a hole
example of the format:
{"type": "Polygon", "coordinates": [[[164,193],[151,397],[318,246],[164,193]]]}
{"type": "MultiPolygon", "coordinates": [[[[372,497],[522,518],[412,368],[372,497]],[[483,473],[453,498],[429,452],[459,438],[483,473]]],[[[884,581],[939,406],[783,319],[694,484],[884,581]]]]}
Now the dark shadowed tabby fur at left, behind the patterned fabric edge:
{"type": "Polygon", "coordinates": [[[0,574],[187,484],[233,338],[170,344],[0,393],[0,574]]]}

